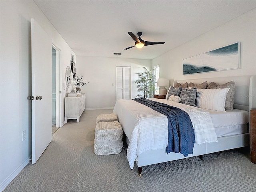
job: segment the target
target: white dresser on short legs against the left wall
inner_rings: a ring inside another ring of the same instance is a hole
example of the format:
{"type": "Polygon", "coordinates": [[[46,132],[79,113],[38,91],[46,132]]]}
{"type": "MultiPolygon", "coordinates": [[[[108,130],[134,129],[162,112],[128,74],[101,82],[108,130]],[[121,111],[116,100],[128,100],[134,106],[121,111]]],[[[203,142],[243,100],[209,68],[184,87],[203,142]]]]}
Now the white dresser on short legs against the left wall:
{"type": "Polygon", "coordinates": [[[65,97],[65,123],[68,122],[68,119],[77,119],[77,122],[79,122],[80,116],[84,111],[84,93],[82,93],[79,97],[65,97]]]}

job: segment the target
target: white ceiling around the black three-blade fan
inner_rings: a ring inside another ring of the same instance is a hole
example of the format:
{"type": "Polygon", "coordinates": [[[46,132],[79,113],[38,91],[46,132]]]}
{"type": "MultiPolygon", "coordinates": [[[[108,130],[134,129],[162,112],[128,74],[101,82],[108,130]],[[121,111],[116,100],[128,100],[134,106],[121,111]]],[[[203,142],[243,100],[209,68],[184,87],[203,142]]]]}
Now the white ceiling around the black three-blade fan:
{"type": "Polygon", "coordinates": [[[153,59],[256,7],[244,0],[35,0],[77,56],[153,59]],[[127,32],[160,45],[136,47],[127,32]],[[113,55],[114,52],[122,53],[113,55]]]}

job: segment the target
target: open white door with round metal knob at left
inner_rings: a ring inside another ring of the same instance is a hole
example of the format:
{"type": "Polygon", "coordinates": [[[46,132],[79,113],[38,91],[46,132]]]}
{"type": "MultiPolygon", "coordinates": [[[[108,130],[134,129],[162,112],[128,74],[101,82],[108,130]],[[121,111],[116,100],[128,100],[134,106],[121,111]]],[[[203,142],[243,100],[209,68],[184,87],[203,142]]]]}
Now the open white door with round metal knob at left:
{"type": "Polygon", "coordinates": [[[52,140],[52,40],[34,19],[31,19],[31,58],[34,164],[52,140]]]}

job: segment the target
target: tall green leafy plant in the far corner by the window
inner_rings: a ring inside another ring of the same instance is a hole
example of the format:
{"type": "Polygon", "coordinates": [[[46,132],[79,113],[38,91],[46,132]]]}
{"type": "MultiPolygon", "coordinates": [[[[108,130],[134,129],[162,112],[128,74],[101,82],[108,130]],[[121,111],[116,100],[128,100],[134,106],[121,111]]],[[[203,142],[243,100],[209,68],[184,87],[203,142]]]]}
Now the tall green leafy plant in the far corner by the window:
{"type": "MultiPolygon", "coordinates": [[[[143,67],[145,72],[142,73],[136,73],[138,74],[138,80],[136,80],[134,83],[138,84],[138,92],[143,92],[143,97],[148,98],[150,95],[152,95],[152,92],[155,87],[155,80],[156,76],[152,73],[153,69],[151,71],[148,71],[146,67],[143,67]]],[[[137,97],[142,97],[142,95],[138,94],[137,97]]]]}

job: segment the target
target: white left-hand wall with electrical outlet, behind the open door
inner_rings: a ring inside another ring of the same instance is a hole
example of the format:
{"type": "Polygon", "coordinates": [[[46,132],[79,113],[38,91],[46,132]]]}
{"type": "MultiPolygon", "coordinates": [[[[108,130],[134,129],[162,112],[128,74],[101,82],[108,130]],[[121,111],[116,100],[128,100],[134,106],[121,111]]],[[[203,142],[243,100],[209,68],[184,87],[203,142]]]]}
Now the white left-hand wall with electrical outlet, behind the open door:
{"type": "MultiPolygon", "coordinates": [[[[66,66],[70,66],[70,56],[74,52],[34,1],[0,1],[0,11],[0,190],[2,191],[31,158],[31,101],[27,100],[31,95],[31,18],[44,28],[52,38],[53,44],[61,50],[62,82],[65,82],[66,66]],[[24,130],[26,130],[26,139],[22,142],[24,130]]],[[[62,91],[61,121],[64,122],[64,97],[71,88],[62,91]]]]}

